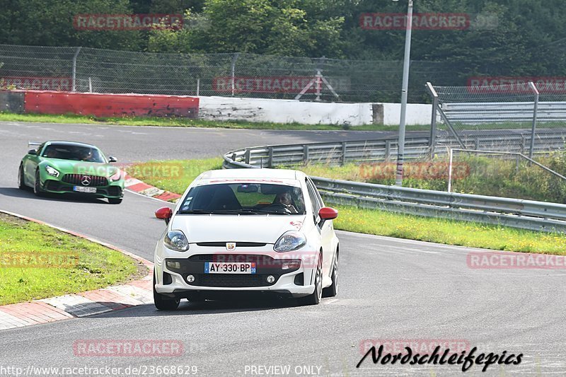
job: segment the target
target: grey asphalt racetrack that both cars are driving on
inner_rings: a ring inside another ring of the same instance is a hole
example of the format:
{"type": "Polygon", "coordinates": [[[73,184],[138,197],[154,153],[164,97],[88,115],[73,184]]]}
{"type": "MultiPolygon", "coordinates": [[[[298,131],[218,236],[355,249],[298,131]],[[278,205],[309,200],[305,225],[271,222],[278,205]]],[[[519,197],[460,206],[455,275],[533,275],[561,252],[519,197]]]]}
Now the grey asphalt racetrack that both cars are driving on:
{"type": "MultiPolygon", "coordinates": [[[[97,144],[120,161],[219,156],[241,146],[377,138],[379,133],[169,129],[0,123],[0,208],[85,233],[152,259],[163,203],[127,193],[120,205],[37,199],[16,188],[28,140],[97,144]]],[[[519,366],[473,366],[467,376],[566,373],[562,269],[470,269],[470,248],[340,232],[340,292],[318,306],[294,301],[146,305],[0,331],[0,366],[197,366],[197,376],[252,376],[250,366],[320,366],[325,376],[451,376],[459,366],[382,366],[364,340],[464,340],[480,352],[524,354],[519,366]],[[76,340],[180,340],[176,357],[74,356],[76,340]]],[[[481,251],[481,250],[476,250],[481,251]]],[[[257,370],[257,369],[256,369],[257,370]]],[[[316,370],[316,369],[315,369],[316,370]]],[[[45,375],[45,374],[44,374],[45,375]]],[[[255,374],[257,375],[257,374],[255,374]]]]}

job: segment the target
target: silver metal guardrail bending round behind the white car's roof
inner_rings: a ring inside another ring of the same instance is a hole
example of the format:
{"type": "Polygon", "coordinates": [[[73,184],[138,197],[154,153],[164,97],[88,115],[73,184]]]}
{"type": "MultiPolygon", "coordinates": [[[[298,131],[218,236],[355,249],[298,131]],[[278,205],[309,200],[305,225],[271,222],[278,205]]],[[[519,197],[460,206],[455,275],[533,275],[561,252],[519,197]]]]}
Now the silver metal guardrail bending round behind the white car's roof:
{"type": "MultiPolygon", "coordinates": [[[[382,142],[384,142],[382,140],[382,142]]],[[[392,141],[390,141],[391,147],[392,141]]],[[[415,141],[415,149],[422,148],[415,141]]],[[[303,144],[293,146],[255,146],[224,155],[224,168],[260,168],[317,161],[340,163],[352,158],[381,156],[362,153],[362,146],[383,147],[378,141],[303,144]],[[352,144],[352,145],[350,145],[352,144]]],[[[379,149],[380,151],[382,149],[379,149]]],[[[391,149],[390,149],[391,151],[391,149]]],[[[357,160],[365,161],[365,160],[357,160]]],[[[328,204],[383,209],[403,214],[476,221],[533,231],[566,233],[566,204],[533,200],[458,194],[408,187],[376,185],[347,180],[311,177],[328,204]]]]}

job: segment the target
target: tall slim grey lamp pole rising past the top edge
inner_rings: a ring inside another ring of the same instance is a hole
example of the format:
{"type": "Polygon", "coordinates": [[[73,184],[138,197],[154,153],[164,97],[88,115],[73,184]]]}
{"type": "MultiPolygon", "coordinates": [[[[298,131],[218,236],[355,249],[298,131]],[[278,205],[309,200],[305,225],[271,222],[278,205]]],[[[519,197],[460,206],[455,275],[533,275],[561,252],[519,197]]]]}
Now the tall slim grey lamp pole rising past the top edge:
{"type": "Polygon", "coordinates": [[[397,170],[395,185],[403,186],[403,158],[405,155],[405,118],[407,117],[407,95],[409,90],[409,63],[411,55],[412,0],[407,11],[407,32],[405,33],[405,59],[403,60],[403,88],[401,90],[401,116],[399,122],[399,141],[397,149],[397,170]]]}

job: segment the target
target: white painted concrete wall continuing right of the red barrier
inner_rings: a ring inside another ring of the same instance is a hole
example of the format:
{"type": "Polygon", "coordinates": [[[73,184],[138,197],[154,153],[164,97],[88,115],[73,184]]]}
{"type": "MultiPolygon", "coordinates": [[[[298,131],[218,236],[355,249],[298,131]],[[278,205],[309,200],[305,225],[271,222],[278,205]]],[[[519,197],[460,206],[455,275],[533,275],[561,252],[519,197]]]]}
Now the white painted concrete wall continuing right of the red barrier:
{"type": "MultiPolygon", "coordinates": [[[[316,103],[263,98],[199,97],[199,117],[205,120],[248,120],[304,124],[371,124],[372,103],[316,103]]],[[[399,124],[400,105],[383,103],[383,122],[399,124]]],[[[430,124],[431,105],[409,104],[407,124],[430,124]]]]}

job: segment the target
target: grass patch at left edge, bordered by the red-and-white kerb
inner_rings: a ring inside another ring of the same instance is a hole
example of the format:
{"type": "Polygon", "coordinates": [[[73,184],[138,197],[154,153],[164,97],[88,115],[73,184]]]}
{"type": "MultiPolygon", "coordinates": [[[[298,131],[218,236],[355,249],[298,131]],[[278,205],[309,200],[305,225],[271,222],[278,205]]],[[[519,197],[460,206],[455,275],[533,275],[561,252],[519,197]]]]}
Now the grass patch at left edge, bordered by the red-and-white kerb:
{"type": "Polygon", "coordinates": [[[0,214],[0,242],[0,305],[103,288],[144,274],[145,267],[118,251],[6,214],[0,214]]]}

